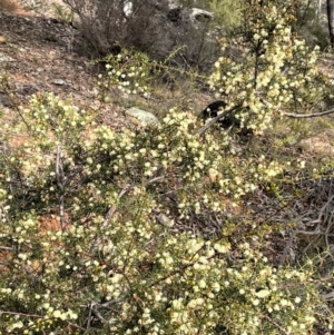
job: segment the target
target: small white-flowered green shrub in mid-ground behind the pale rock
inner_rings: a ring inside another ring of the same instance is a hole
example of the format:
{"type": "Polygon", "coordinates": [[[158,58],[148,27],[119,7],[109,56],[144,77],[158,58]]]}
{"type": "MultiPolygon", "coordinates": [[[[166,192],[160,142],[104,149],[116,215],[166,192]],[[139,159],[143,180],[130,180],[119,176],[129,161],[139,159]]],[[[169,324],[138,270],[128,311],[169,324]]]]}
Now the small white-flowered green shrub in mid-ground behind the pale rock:
{"type": "MultiPolygon", "coordinates": [[[[156,88],[161,83],[166,90],[167,87],[180,86],[183,81],[186,81],[188,90],[197,90],[207,77],[196,70],[186,71],[174,65],[174,60],[183,50],[184,48],[178,48],[164,61],[157,61],[144,52],[122,48],[118,55],[108,55],[94,61],[92,63],[106,63],[106,71],[98,75],[96,95],[105,102],[110,100],[115,91],[149,98],[156,93],[156,88]]],[[[185,88],[181,89],[185,96],[185,88]]],[[[166,91],[164,97],[165,95],[166,91]]]]}

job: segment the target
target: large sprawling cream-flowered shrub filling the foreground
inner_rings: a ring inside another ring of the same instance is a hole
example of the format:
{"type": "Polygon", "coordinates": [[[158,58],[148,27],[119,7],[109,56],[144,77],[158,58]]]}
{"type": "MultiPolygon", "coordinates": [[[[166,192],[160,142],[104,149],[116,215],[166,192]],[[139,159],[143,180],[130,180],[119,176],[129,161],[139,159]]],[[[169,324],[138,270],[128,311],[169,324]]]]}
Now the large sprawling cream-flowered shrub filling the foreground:
{"type": "Polygon", "coordinates": [[[274,268],[256,228],[236,247],[233,223],[212,239],[181,229],[278,165],[230,156],[178,110],[140,132],[96,126],[53,95],[21,114],[30,140],[1,156],[1,334],[312,331],[312,264],[274,268]],[[58,228],[41,230],[47,213],[58,228]]]}

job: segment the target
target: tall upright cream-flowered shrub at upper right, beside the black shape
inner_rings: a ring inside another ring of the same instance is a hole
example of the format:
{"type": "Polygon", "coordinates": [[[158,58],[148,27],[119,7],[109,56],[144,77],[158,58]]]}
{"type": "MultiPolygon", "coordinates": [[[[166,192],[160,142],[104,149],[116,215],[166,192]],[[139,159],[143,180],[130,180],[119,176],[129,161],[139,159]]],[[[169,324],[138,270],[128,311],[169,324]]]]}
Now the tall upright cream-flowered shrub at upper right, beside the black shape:
{"type": "Polygon", "coordinates": [[[242,106],[242,126],[261,134],[284,112],[316,111],[333,82],[317,67],[318,48],[310,50],[292,32],[293,8],[284,1],[253,2],[245,1],[244,33],[233,41],[240,46],[239,57],[216,61],[210,87],[228,102],[226,109],[242,106]]]}

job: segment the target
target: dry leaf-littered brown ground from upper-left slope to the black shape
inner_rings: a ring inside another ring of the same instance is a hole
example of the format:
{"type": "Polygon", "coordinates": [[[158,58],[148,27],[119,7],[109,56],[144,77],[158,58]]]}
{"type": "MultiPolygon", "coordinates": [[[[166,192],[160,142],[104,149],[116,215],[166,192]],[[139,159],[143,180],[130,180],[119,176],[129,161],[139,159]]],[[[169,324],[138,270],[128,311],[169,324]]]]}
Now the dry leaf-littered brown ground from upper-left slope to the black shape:
{"type": "MultiPolygon", "coordinates": [[[[14,0],[0,0],[0,8],[1,3],[11,1],[14,0]]],[[[10,76],[18,102],[29,100],[36,92],[52,91],[62,98],[71,96],[76,105],[98,111],[104,122],[112,127],[126,122],[122,111],[132,106],[161,117],[176,105],[199,112],[212,102],[210,95],[190,92],[187,85],[180,85],[176,89],[155,87],[150,100],[115,91],[111,93],[114,104],[102,104],[92,95],[97,71],[102,68],[89,63],[91,59],[82,49],[85,42],[80,32],[61,22],[52,11],[53,2],[61,3],[61,0],[45,0],[49,6],[38,12],[24,10],[17,3],[6,4],[8,10],[0,10],[0,67],[10,76]]],[[[2,97],[2,100],[7,99],[2,97]]]]}

